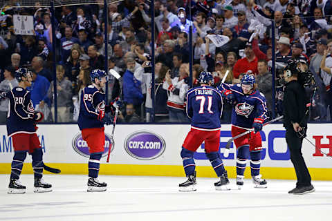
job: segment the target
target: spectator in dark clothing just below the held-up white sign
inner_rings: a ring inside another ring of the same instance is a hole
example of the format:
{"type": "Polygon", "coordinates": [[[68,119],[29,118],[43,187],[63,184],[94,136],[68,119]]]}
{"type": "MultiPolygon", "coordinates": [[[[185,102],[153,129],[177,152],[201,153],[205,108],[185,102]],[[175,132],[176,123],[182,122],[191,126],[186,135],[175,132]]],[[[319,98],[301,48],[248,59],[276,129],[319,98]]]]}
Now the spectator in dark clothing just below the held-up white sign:
{"type": "Polygon", "coordinates": [[[38,54],[38,47],[36,40],[33,36],[28,35],[25,40],[25,44],[21,44],[21,65],[30,66],[33,57],[38,54]]]}

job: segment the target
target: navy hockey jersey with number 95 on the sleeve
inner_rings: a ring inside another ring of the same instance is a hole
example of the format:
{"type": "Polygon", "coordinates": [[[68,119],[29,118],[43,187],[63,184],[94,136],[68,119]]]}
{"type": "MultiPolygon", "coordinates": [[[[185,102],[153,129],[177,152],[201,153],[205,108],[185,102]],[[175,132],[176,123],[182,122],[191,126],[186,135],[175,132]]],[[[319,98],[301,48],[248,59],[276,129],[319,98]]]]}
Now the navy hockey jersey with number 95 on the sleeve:
{"type": "Polygon", "coordinates": [[[105,111],[105,94],[95,86],[89,85],[82,90],[78,126],[84,128],[102,128],[104,123],[98,120],[100,111],[105,111]]]}

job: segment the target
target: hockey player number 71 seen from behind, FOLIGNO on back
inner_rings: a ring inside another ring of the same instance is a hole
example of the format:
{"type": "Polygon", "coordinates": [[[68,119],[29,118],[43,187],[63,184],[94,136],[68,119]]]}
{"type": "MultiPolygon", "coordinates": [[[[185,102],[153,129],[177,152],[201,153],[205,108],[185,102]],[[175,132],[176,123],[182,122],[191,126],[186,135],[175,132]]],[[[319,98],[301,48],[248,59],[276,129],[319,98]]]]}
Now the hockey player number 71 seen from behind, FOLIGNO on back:
{"type": "Polygon", "coordinates": [[[223,110],[221,93],[213,88],[213,77],[209,72],[199,75],[201,86],[192,88],[187,93],[188,117],[192,119],[192,128],[185,137],[182,145],[181,157],[186,182],[179,184],[180,191],[196,191],[196,171],[194,152],[205,142],[205,153],[210,160],[219,182],[214,183],[216,190],[228,189],[227,171],[223,167],[223,161],[219,155],[220,144],[220,117],[223,110]]]}

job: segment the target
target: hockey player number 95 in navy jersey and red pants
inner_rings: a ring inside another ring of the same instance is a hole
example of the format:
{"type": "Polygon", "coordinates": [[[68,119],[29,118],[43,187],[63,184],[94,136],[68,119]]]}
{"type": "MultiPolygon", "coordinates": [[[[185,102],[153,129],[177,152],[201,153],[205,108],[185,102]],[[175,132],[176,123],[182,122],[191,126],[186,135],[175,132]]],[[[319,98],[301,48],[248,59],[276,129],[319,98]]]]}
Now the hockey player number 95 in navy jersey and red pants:
{"type": "MultiPolygon", "coordinates": [[[[111,124],[109,115],[105,115],[105,93],[102,88],[107,81],[104,70],[95,69],[91,72],[92,84],[83,89],[81,94],[80,115],[78,126],[82,131],[82,139],[89,146],[89,180],[87,191],[106,191],[107,184],[97,179],[100,158],[104,153],[105,133],[104,124],[111,124]]],[[[121,102],[116,102],[121,105],[121,102]]],[[[110,110],[110,108],[109,108],[110,110]]]]}

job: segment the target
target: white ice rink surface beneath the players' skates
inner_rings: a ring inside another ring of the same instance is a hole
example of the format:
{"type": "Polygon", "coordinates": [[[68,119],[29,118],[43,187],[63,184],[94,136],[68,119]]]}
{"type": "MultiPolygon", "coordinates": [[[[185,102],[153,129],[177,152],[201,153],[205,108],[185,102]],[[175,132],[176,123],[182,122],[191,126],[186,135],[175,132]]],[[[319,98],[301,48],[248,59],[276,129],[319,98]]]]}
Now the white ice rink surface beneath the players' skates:
{"type": "Polygon", "coordinates": [[[183,193],[185,177],[100,175],[109,189],[86,192],[86,175],[44,175],[51,193],[33,193],[33,175],[21,175],[24,194],[7,193],[9,175],[0,175],[0,220],[331,220],[332,182],[314,181],[316,191],[290,195],[295,180],[268,180],[254,189],[245,180],[237,190],[216,191],[216,178],[197,178],[197,191],[183,193]]]}

